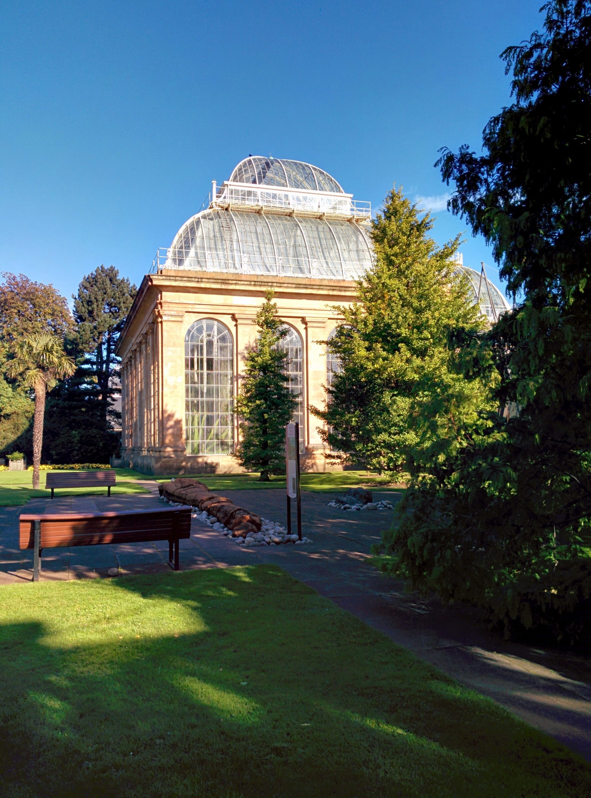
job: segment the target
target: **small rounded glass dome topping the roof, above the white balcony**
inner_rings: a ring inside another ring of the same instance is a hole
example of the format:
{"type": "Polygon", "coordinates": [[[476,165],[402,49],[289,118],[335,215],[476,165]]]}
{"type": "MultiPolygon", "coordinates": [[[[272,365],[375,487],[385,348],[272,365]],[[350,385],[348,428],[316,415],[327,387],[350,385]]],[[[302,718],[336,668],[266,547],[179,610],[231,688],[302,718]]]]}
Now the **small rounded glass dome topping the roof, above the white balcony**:
{"type": "Polygon", "coordinates": [[[308,192],[333,192],[344,194],[343,189],[323,169],[301,160],[284,160],[248,156],[232,172],[230,183],[247,183],[256,186],[280,186],[308,192]]]}

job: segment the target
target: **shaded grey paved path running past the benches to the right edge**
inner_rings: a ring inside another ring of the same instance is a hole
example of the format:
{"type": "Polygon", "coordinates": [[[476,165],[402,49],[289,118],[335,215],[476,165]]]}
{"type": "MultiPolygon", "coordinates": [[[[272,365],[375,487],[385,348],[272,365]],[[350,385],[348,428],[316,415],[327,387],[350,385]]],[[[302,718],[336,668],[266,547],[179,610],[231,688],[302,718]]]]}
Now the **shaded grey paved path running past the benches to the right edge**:
{"type": "MultiPolygon", "coordinates": [[[[151,487],[148,480],[145,487],[151,487]]],[[[226,491],[237,504],[285,523],[285,494],[273,489],[226,491]]],[[[394,500],[395,494],[375,492],[394,500]]],[[[591,662],[552,650],[506,642],[486,629],[465,607],[444,607],[420,599],[403,584],[367,565],[371,543],[389,523],[386,512],[346,513],[327,507],[331,496],[303,492],[305,546],[238,547],[208,526],[194,521],[191,539],[180,543],[181,568],[276,563],[315,587],[394,642],[493,697],[519,717],[553,735],[591,760],[591,662]]],[[[31,500],[27,510],[117,509],[160,504],[152,495],[74,497],[31,500]]],[[[22,508],[0,508],[0,584],[31,579],[32,552],[18,550],[22,508]]],[[[133,543],[44,551],[43,579],[80,579],[168,568],[168,543],[133,543]]]]}

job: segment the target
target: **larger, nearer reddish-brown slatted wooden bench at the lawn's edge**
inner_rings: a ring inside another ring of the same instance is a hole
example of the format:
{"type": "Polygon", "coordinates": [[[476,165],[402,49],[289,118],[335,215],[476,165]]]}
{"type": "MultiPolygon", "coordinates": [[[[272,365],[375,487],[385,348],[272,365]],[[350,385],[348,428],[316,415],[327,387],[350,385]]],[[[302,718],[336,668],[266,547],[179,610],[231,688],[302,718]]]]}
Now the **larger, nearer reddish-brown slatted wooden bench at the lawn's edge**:
{"type": "Polygon", "coordinates": [[[179,570],[179,540],[191,535],[191,507],[120,512],[23,513],[19,546],[34,550],[33,581],[39,579],[44,548],[100,543],[169,541],[169,566],[179,570]]]}

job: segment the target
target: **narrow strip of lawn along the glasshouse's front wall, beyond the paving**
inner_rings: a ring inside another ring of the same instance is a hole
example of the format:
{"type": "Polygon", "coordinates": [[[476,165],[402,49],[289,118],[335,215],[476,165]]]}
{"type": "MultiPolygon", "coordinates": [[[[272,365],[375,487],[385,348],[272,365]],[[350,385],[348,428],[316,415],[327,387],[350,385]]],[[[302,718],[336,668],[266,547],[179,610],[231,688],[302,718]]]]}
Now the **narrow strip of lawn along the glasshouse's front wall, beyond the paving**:
{"type": "MultiPolygon", "coordinates": [[[[173,474],[173,476],[179,476],[173,474]]],[[[270,482],[259,482],[258,474],[183,474],[182,476],[192,476],[208,486],[212,491],[240,490],[240,488],[283,488],[285,490],[285,477],[272,476],[270,482]]],[[[158,476],[158,482],[170,480],[170,476],[158,476]]],[[[391,484],[391,480],[386,476],[371,474],[367,476],[367,471],[333,471],[326,474],[302,474],[302,490],[319,492],[345,492],[347,488],[377,488],[379,490],[390,491],[400,490],[400,486],[391,484]]]]}

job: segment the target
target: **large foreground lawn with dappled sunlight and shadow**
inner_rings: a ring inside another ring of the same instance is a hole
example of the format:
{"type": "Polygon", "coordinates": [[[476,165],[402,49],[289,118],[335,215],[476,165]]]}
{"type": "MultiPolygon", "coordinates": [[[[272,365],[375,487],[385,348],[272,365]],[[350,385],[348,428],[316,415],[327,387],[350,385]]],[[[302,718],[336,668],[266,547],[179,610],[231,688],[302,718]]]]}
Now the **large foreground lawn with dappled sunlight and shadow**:
{"type": "Polygon", "coordinates": [[[2,796],[554,798],[591,766],[277,567],[0,589],[2,796]]]}

